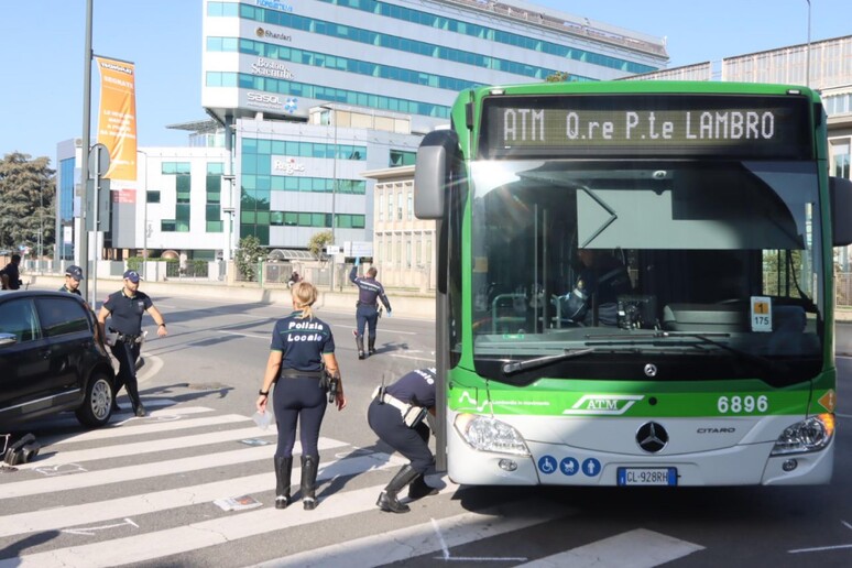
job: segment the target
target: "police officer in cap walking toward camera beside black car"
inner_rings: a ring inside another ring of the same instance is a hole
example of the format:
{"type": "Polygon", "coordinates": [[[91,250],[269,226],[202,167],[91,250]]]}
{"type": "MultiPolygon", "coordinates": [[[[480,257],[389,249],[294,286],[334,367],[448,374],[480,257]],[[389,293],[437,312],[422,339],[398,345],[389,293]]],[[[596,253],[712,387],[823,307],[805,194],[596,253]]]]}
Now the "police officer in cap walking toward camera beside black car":
{"type": "MultiPolygon", "coordinates": [[[[122,386],[125,386],[133,413],[136,416],[145,415],[145,407],[139,397],[139,384],[136,383],[136,359],[142,348],[142,315],[148,312],[157,325],[156,334],[165,337],[165,320],[160,310],[154,307],[151,297],[139,292],[139,273],[133,270],[124,272],[124,287],[110,294],[98,313],[98,325],[101,337],[106,334],[107,317],[111,317],[109,330],[118,334],[114,345],[111,346],[112,354],[118,359],[119,372],[116,381],[116,396],[122,386]]],[[[121,408],[112,400],[113,409],[121,408]]]]}

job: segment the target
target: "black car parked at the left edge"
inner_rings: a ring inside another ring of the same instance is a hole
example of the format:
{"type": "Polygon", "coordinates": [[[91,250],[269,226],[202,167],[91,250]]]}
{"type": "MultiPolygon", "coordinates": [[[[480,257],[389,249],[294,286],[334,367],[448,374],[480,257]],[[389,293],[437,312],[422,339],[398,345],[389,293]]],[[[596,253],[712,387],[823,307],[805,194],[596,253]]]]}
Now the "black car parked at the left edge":
{"type": "Polygon", "coordinates": [[[0,433],[63,411],[84,426],[109,422],[116,375],[96,326],[75,294],[0,292],[0,433]]]}

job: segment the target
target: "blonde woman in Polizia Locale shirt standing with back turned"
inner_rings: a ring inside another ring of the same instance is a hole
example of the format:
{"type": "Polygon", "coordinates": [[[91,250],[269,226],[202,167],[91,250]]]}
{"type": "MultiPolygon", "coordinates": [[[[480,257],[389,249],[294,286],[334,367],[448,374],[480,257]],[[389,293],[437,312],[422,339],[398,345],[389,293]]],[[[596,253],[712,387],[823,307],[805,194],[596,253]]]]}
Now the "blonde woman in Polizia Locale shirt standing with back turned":
{"type": "MultiPolygon", "coordinates": [[[[326,414],[326,392],[320,384],[323,367],[330,375],[340,376],[335,358],[331,328],[314,317],[312,305],[317,288],[309,282],[297,282],[291,288],[294,312],[275,323],[272,347],[266,362],[263,386],[258,397],[258,412],[266,412],[270,389],[275,383],[272,407],[278,427],[275,449],[275,509],[290,504],[290,474],[296,423],[302,441],[302,502],[306,510],[316,507],[317,466],[319,465],[319,426],[326,414]]],[[[337,409],[346,407],[343,386],[338,382],[337,409]]]]}

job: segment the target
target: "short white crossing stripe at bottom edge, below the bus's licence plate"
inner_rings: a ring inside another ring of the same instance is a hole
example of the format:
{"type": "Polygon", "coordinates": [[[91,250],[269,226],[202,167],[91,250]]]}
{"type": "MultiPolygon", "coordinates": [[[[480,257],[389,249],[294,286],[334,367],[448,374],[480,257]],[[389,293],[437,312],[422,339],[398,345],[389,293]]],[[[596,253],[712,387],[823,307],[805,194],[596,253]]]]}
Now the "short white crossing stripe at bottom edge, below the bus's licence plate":
{"type": "Polygon", "coordinates": [[[524,568],[559,568],[561,566],[570,566],[571,568],[598,568],[600,566],[652,568],[703,549],[703,546],[673,536],[636,528],[521,566],[524,568]]]}

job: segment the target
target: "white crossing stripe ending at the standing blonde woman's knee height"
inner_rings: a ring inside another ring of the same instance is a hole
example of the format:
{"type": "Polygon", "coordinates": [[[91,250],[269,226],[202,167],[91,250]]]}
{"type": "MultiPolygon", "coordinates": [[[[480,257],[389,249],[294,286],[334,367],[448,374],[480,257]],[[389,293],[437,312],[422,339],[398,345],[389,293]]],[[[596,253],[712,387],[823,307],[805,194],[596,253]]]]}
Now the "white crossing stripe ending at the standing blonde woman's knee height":
{"type": "Polygon", "coordinates": [[[51,448],[43,448],[35,461],[20,466],[18,469],[36,469],[54,463],[80,463],[98,459],[121,458],[125,456],[139,456],[181,448],[196,448],[210,444],[233,441],[244,438],[272,437],[274,444],[275,430],[262,430],[256,426],[238,428],[232,430],[211,432],[193,436],[178,436],[176,438],[163,438],[151,441],[136,441],[130,444],[117,444],[114,446],[100,446],[85,450],[57,451],[50,455],[51,448]],[[42,458],[43,454],[48,454],[42,458]]]}

